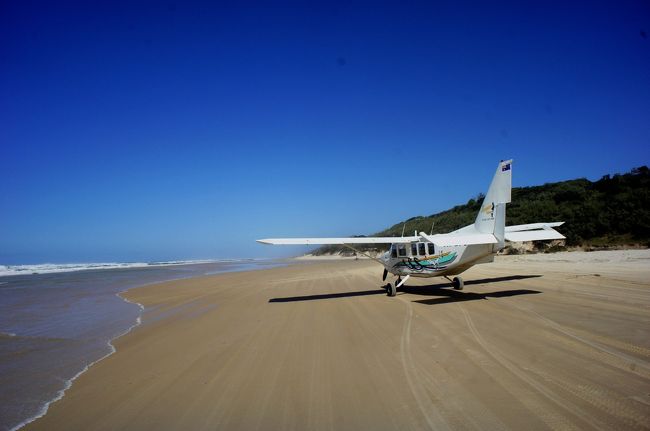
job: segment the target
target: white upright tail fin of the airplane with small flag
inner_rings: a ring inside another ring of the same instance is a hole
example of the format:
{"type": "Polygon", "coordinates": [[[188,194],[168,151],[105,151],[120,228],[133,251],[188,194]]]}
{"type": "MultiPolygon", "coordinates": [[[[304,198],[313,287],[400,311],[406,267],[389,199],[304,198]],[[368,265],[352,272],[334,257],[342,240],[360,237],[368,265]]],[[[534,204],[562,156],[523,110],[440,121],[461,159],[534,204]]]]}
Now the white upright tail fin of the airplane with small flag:
{"type": "Polygon", "coordinates": [[[503,247],[505,241],[506,204],[510,202],[511,190],[512,160],[504,160],[497,167],[474,222],[478,232],[494,234],[499,248],[503,247]]]}

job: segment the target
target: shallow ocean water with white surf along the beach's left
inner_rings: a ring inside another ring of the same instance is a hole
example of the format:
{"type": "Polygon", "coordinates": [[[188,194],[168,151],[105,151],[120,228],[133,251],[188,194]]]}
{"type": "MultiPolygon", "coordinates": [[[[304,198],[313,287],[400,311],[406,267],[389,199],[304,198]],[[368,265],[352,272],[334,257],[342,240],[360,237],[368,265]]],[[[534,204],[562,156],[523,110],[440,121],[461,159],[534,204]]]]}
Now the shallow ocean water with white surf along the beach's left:
{"type": "Polygon", "coordinates": [[[279,265],[283,262],[231,260],[1,267],[0,430],[42,416],[72,380],[114,352],[111,340],[139,324],[141,306],[120,292],[279,265]]]}

